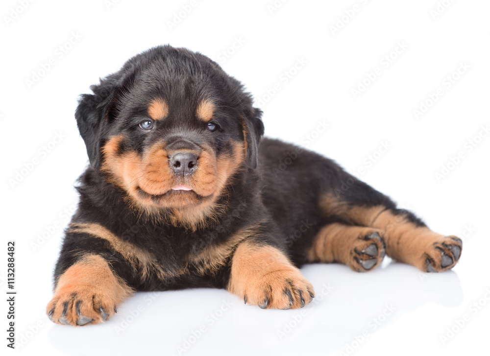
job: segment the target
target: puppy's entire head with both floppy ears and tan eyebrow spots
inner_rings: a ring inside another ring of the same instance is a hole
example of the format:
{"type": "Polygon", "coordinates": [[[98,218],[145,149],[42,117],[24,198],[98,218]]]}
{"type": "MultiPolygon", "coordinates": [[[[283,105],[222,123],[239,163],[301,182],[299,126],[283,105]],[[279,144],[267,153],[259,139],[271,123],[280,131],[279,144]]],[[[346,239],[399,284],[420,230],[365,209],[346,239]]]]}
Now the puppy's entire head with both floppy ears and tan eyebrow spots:
{"type": "Polygon", "coordinates": [[[139,207],[210,204],[257,166],[261,111],[199,53],[155,47],[91,89],[75,114],[90,164],[139,207]]]}

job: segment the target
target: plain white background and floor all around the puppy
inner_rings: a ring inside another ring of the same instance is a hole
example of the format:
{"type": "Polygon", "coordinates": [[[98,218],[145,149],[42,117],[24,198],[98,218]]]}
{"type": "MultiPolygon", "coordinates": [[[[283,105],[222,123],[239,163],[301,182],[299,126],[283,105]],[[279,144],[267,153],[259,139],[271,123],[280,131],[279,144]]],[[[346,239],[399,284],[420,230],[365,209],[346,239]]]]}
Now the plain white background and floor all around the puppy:
{"type": "MultiPolygon", "coordinates": [[[[5,293],[6,241],[15,240],[21,354],[488,350],[490,139],[481,127],[490,123],[490,3],[275,3],[281,6],[272,8],[273,0],[2,1],[0,283],[5,293]],[[73,184],[87,164],[73,118],[77,96],[129,57],[167,43],[200,51],[243,81],[264,110],[267,136],[308,145],[360,172],[433,230],[463,238],[459,264],[430,275],[390,261],[365,274],[308,265],[302,271],[317,298],[300,310],[262,310],[225,290],[193,289],[139,293],[103,325],[50,323],[52,269],[77,202],[73,184]],[[294,69],[298,61],[304,64],[294,69]],[[461,64],[466,69],[458,74],[461,64]],[[373,80],[372,72],[378,73],[373,80]],[[366,89],[354,95],[360,81],[366,89]],[[430,108],[417,117],[414,110],[427,100],[430,108]],[[327,129],[318,130],[319,122],[327,129]],[[388,149],[380,151],[382,143],[388,149]],[[465,315],[463,325],[458,320],[465,315]]],[[[2,350],[6,309],[2,302],[2,350]]]]}

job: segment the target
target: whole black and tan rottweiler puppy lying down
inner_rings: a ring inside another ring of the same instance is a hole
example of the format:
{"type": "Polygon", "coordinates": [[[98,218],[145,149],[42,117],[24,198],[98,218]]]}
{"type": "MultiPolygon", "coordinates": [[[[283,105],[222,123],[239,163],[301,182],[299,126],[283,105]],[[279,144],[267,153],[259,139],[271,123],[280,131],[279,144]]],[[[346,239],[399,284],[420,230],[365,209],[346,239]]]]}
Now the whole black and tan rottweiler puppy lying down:
{"type": "Polygon", "coordinates": [[[302,308],[315,296],[304,263],[365,272],[387,254],[440,272],[460,258],[458,237],[332,160],[261,139],[251,95],[200,53],[151,48],[91,89],[75,113],[90,166],[54,271],[55,323],[104,321],[139,290],[302,308]]]}

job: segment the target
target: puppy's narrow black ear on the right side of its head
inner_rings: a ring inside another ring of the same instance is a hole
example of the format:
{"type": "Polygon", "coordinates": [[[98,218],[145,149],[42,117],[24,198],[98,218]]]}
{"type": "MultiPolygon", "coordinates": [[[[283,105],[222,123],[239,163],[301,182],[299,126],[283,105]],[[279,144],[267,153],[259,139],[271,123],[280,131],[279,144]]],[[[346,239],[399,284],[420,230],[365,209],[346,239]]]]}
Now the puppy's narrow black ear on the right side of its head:
{"type": "Polygon", "coordinates": [[[262,110],[250,105],[250,110],[245,114],[242,122],[246,143],[246,162],[250,168],[257,168],[257,148],[260,139],[264,135],[264,123],[262,122],[262,110]]]}

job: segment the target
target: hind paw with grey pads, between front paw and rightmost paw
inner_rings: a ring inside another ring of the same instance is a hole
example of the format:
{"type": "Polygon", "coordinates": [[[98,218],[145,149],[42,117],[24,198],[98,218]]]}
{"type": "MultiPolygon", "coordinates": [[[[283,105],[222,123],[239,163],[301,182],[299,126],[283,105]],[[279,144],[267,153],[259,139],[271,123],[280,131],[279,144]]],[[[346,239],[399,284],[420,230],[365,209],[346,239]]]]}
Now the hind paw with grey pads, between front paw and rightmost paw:
{"type": "Polygon", "coordinates": [[[353,261],[350,267],[358,272],[367,272],[381,264],[385,257],[385,241],[380,231],[358,237],[350,252],[353,261]]]}

